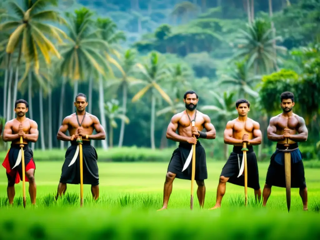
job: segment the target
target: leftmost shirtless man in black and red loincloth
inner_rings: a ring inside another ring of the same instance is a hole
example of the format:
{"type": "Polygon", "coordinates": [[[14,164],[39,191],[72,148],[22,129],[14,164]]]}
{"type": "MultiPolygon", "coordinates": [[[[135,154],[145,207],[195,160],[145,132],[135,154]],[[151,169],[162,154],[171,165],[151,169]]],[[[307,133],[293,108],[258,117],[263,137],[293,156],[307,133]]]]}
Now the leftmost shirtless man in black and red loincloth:
{"type": "Polygon", "coordinates": [[[27,118],[28,102],[19,99],[14,104],[14,111],[17,117],[8,121],[4,125],[3,140],[5,142],[11,142],[11,147],[4,159],[2,165],[6,169],[8,178],[7,194],[9,204],[13,204],[13,198],[15,195],[14,184],[22,181],[22,162],[21,158],[18,159],[20,147],[20,137],[23,140],[24,151],[24,163],[25,163],[25,180],[29,182],[29,194],[31,198],[31,204],[36,204],[36,181],[35,181],[35,169],[36,164],[33,159],[33,152],[29,148],[29,142],[36,142],[38,140],[38,124],[27,118]],[[14,167],[14,165],[20,161],[20,163],[14,167]],[[14,167],[14,168],[13,168],[14,167]],[[12,169],[13,168],[13,169],[12,169]]]}

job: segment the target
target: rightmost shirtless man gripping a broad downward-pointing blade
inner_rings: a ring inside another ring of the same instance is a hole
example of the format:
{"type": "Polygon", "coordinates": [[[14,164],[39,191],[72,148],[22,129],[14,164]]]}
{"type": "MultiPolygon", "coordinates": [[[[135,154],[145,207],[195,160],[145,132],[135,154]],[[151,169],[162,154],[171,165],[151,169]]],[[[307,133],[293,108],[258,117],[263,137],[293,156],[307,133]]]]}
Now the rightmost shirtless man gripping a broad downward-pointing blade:
{"type": "Polygon", "coordinates": [[[267,172],[266,184],[263,188],[263,206],[266,206],[271,194],[271,187],[285,188],[284,175],[284,144],[290,144],[291,151],[291,188],[299,188],[303,209],[308,210],[308,194],[306,179],[304,176],[304,166],[302,154],[298,147],[298,142],[308,139],[308,129],[302,117],[294,114],[294,95],[292,92],[283,92],[280,95],[281,108],[283,113],[270,119],[267,129],[268,139],[277,142],[276,151],[271,156],[270,165],[267,172]],[[286,142],[288,140],[288,142],[286,142]]]}

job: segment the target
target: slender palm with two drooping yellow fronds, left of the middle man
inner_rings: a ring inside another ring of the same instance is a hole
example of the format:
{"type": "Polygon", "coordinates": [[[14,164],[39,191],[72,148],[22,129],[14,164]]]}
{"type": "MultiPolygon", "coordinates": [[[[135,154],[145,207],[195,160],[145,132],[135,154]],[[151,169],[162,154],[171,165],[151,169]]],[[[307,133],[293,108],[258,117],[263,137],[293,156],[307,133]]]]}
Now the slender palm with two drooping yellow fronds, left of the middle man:
{"type": "Polygon", "coordinates": [[[156,91],[160,93],[162,98],[169,104],[172,104],[171,98],[158,84],[164,79],[171,78],[171,74],[167,67],[164,65],[164,60],[161,55],[157,52],[151,52],[148,56],[149,63],[140,64],[137,63],[136,66],[139,71],[143,74],[144,87],[134,95],[132,102],[139,100],[146,92],[150,90],[151,92],[151,121],[150,121],[150,140],[151,148],[155,149],[155,112],[156,112],[156,91]]]}

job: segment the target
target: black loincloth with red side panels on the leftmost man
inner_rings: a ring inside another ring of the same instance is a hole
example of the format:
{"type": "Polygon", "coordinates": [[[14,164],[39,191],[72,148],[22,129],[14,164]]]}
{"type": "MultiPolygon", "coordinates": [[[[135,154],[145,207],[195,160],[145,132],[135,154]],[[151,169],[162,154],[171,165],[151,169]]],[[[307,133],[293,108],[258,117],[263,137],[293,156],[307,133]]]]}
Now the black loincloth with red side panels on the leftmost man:
{"type": "MultiPolygon", "coordinates": [[[[36,169],[36,163],[33,159],[33,152],[29,148],[28,144],[23,145],[25,172],[27,172],[30,169],[36,169]]],[[[8,182],[11,186],[15,183],[19,183],[20,180],[22,181],[22,159],[20,164],[12,169],[12,167],[16,164],[20,149],[20,144],[11,144],[10,149],[2,163],[2,165],[6,169],[8,182]]],[[[25,181],[29,181],[26,175],[25,181]]]]}

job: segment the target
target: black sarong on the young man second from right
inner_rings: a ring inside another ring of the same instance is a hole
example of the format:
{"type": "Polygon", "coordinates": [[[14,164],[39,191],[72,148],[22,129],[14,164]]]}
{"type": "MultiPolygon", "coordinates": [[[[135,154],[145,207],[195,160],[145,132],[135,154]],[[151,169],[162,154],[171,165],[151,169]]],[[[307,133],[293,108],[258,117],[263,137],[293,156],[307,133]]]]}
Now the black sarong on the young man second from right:
{"type": "MultiPolygon", "coordinates": [[[[255,152],[253,151],[253,147],[247,146],[249,151],[247,151],[247,167],[248,167],[248,188],[253,188],[254,190],[260,189],[259,184],[259,171],[258,171],[258,163],[255,152]]],[[[239,175],[240,166],[242,164],[243,152],[241,151],[241,146],[234,146],[233,150],[226,162],[223,166],[220,177],[229,178],[228,182],[238,185],[244,186],[244,172],[240,177],[239,175]]]]}

